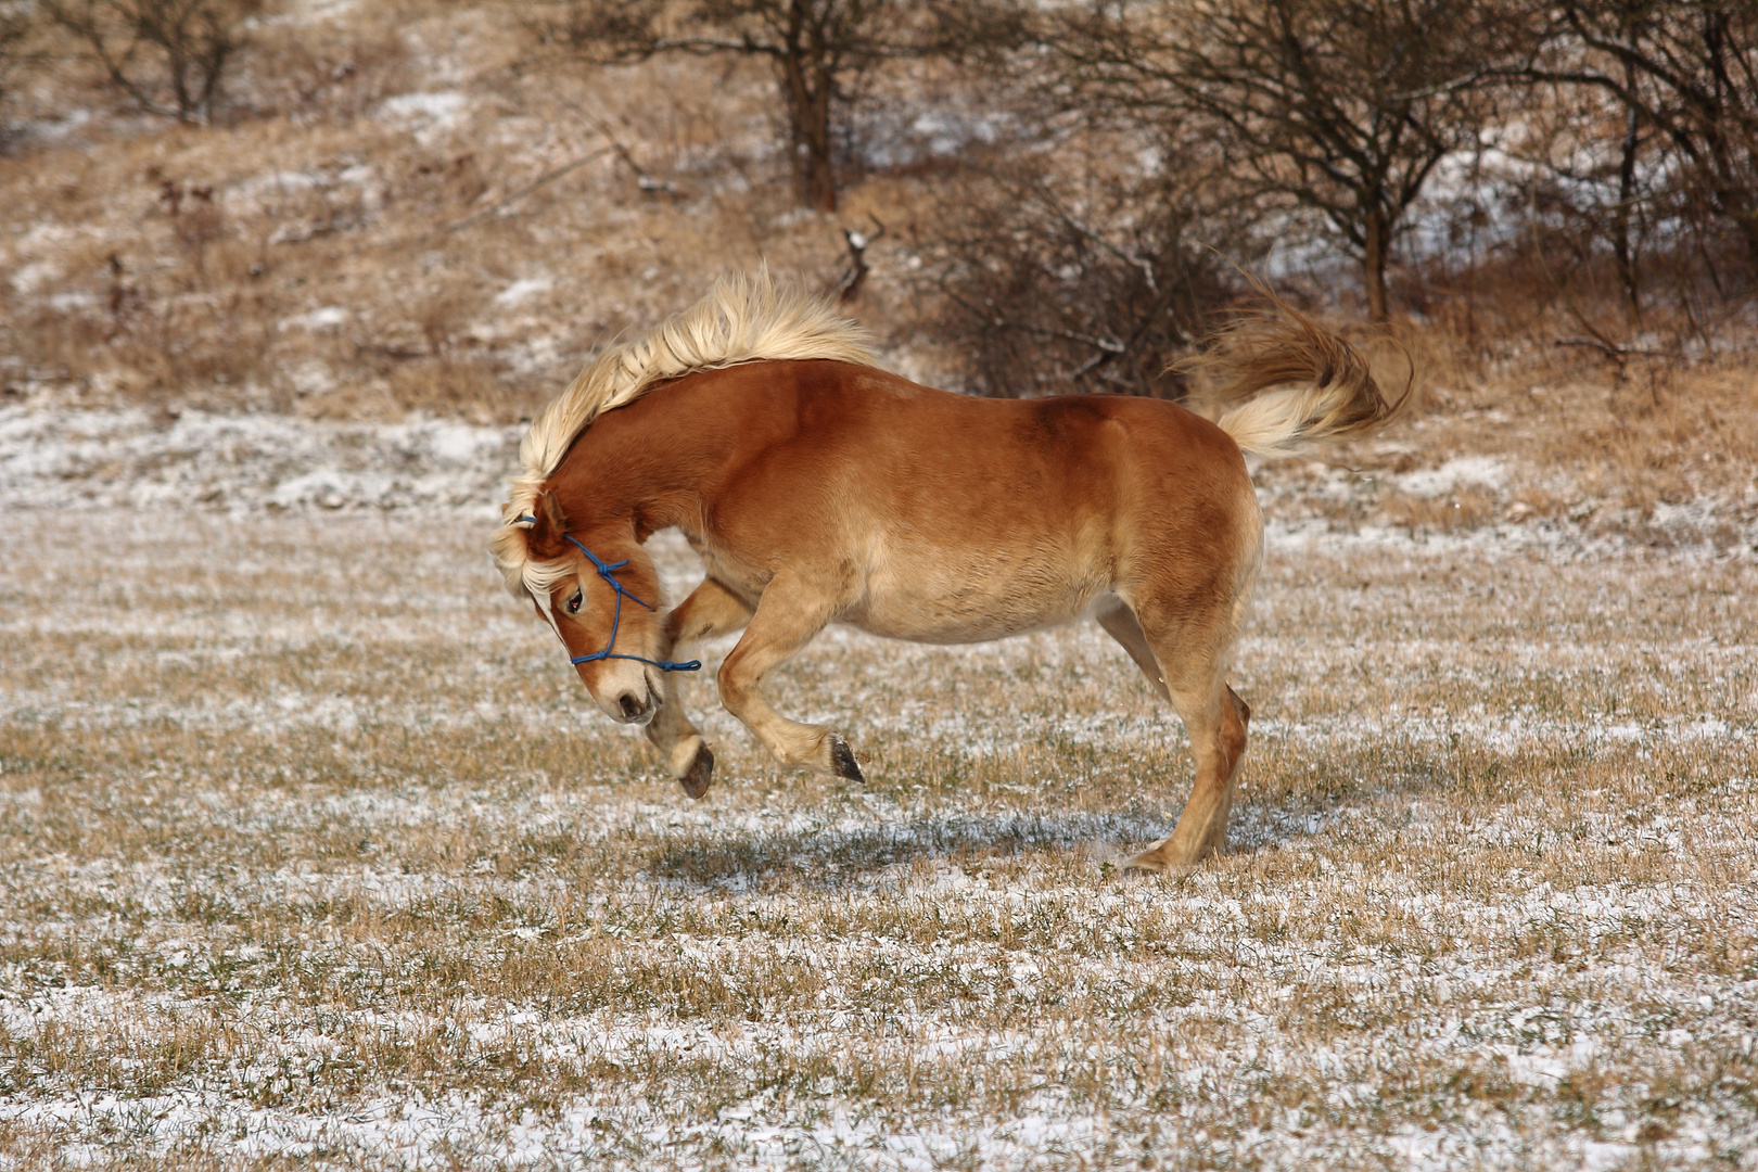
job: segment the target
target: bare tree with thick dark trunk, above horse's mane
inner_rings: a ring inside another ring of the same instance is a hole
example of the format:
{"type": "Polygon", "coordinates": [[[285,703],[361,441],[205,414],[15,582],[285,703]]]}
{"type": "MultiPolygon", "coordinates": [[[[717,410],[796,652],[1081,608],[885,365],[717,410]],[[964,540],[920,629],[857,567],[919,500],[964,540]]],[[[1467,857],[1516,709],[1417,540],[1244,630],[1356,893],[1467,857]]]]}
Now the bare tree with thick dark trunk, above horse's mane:
{"type": "Polygon", "coordinates": [[[548,30],[589,60],[740,54],[775,70],[795,199],[837,206],[837,125],[877,63],[955,51],[930,5],[909,0],[580,0],[548,30]]]}

